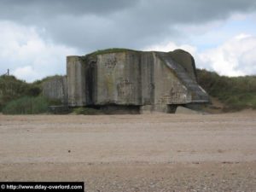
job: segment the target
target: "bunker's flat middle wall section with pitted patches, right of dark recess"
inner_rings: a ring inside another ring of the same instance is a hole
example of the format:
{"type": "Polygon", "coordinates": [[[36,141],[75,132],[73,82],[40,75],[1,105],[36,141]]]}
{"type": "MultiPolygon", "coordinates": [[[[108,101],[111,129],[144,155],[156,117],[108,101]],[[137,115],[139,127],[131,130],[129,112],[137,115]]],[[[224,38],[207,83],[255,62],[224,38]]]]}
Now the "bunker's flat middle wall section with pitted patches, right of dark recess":
{"type": "Polygon", "coordinates": [[[96,105],[141,105],[140,55],[97,55],[96,105]]]}

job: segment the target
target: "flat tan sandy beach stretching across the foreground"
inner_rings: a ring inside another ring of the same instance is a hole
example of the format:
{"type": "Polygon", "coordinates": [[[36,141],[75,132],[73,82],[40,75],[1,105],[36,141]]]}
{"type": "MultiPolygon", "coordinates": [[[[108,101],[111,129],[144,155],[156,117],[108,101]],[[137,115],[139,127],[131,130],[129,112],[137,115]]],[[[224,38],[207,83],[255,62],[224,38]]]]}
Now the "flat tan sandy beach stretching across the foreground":
{"type": "Polygon", "coordinates": [[[256,113],[0,115],[0,181],[256,191],[256,113]]]}

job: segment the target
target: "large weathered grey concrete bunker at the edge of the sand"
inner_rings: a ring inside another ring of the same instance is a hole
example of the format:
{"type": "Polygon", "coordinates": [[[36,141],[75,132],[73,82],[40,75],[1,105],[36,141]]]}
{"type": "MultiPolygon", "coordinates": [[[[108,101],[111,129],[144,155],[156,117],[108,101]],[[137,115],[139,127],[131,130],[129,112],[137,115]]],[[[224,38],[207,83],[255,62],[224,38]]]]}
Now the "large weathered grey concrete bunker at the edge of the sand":
{"type": "Polygon", "coordinates": [[[193,57],[182,50],[67,56],[67,103],[72,107],[139,106],[141,113],[172,113],[178,104],[208,101],[196,82],[193,57]]]}

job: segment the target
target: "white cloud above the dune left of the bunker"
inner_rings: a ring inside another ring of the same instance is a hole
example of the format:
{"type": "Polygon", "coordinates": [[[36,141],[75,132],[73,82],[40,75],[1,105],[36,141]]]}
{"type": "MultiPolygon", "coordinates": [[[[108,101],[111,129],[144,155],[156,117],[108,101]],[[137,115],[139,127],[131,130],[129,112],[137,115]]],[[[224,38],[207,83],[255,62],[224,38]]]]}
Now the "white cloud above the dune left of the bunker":
{"type": "Polygon", "coordinates": [[[77,49],[42,38],[35,27],[1,21],[0,28],[0,74],[9,68],[11,74],[28,82],[65,74],[66,56],[78,54],[77,49]]]}

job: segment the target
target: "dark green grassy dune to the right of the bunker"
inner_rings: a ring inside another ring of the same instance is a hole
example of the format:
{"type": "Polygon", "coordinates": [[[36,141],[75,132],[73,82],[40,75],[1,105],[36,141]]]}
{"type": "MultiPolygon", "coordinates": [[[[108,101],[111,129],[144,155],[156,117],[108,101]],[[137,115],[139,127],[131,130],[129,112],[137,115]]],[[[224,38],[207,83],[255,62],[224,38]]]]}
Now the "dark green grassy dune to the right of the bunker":
{"type": "Polygon", "coordinates": [[[224,110],[256,109],[256,76],[226,77],[197,69],[198,81],[210,96],[224,103],[224,110]]]}

